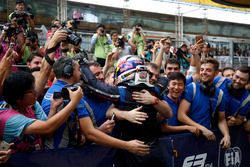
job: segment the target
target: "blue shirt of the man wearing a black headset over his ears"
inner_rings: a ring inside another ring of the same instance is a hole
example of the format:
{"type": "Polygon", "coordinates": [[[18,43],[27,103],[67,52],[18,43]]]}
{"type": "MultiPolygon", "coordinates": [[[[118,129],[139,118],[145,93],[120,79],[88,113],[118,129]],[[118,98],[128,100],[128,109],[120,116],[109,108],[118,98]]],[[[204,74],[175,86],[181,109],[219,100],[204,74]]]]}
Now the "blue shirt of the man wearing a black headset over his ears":
{"type": "MultiPolygon", "coordinates": [[[[44,96],[44,99],[42,101],[42,107],[44,112],[48,115],[50,111],[50,98],[53,95],[54,92],[61,92],[62,88],[67,85],[66,82],[62,80],[57,80],[47,91],[47,93],[44,96]]],[[[79,119],[88,117],[89,113],[85,107],[84,100],[81,99],[77,106],[78,116],[79,119]]],[[[75,120],[74,112],[72,112],[71,116],[69,117],[69,120],[75,120]]],[[[69,140],[69,129],[68,125],[65,122],[62,124],[54,133],[53,138],[50,139],[50,143],[53,144],[47,144],[48,148],[60,148],[60,147],[67,147],[68,146],[68,140],[69,140]]]]}

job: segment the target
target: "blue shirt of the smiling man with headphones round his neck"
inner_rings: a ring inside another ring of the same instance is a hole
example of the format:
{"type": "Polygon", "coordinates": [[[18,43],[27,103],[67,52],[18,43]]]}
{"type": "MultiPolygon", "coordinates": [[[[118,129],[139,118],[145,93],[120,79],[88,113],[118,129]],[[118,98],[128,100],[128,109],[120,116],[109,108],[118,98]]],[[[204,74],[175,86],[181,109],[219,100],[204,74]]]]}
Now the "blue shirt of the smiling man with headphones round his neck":
{"type": "MultiPolygon", "coordinates": [[[[184,99],[191,103],[188,116],[196,123],[211,129],[210,111],[215,112],[220,89],[216,88],[215,94],[210,97],[209,95],[204,94],[204,92],[201,90],[200,83],[195,83],[195,85],[195,95],[192,83],[186,87],[184,94],[184,99]]],[[[218,107],[219,112],[225,111],[224,95],[218,107]]]]}

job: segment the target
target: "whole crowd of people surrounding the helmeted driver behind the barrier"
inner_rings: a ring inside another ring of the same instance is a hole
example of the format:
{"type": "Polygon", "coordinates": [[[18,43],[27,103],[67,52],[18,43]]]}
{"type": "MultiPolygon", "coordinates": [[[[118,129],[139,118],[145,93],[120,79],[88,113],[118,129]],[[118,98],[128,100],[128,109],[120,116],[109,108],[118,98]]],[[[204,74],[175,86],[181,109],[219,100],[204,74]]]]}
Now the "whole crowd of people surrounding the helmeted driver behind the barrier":
{"type": "Polygon", "coordinates": [[[100,24],[90,58],[72,20],[53,20],[41,47],[23,0],[9,19],[0,36],[0,163],[96,143],[118,149],[115,166],[163,166],[161,136],[215,141],[219,129],[229,148],[231,126],[250,132],[250,68],[220,70],[209,43],[175,52],[169,37],[146,39],[141,24],[110,35],[100,24]]]}

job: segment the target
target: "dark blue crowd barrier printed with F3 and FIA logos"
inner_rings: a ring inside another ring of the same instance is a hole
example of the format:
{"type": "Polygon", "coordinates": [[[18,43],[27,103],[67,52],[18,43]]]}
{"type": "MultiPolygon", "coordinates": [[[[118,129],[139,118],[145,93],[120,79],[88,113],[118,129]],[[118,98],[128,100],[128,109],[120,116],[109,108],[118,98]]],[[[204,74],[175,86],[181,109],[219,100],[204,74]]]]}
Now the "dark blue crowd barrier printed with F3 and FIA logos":
{"type": "MultiPolygon", "coordinates": [[[[250,142],[242,128],[230,129],[232,145],[220,147],[221,134],[216,141],[207,141],[192,134],[176,134],[160,138],[166,167],[249,167],[250,142]]],[[[45,150],[17,153],[4,166],[113,167],[116,150],[97,145],[79,149],[45,150]]]]}

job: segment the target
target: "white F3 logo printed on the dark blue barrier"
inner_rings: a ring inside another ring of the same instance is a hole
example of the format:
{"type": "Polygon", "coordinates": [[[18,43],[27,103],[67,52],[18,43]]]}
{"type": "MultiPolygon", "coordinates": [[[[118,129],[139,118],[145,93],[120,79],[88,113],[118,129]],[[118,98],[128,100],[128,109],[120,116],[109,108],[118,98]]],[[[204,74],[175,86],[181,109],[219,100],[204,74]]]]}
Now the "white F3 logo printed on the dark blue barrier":
{"type": "Polygon", "coordinates": [[[182,167],[204,167],[207,153],[186,157],[182,167]]]}

